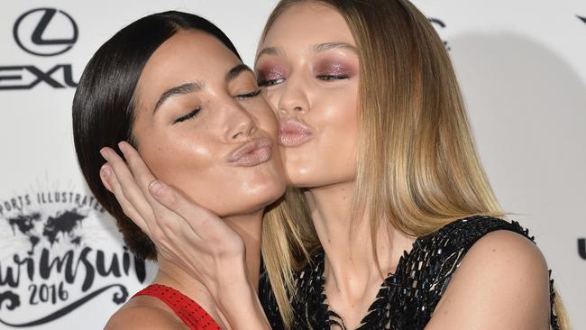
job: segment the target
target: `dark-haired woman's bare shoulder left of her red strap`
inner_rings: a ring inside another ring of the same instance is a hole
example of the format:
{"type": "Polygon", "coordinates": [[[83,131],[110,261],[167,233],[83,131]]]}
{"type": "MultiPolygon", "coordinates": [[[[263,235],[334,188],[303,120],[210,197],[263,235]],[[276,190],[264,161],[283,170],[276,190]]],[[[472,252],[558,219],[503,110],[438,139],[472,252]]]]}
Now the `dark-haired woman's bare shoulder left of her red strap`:
{"type": "Polygon", "coordinates": [[[105,330],[187,329],[179,317],[156,298],[138,297],[133,300],[110,317],[105,330]]]}

